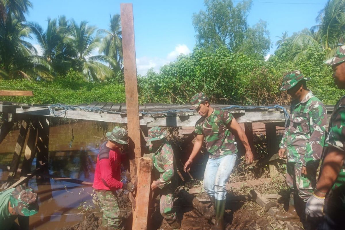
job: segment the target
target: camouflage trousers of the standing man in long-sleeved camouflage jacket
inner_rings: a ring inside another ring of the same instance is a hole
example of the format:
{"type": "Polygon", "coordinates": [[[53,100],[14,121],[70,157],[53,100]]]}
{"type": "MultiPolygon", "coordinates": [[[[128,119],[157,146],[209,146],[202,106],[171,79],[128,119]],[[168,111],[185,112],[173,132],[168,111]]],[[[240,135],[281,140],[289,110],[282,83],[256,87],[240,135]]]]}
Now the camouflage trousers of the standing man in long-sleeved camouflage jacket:
{"type": "Polygon", "coordinates": [[[286,183],[290,191],[307,202],[312,195],[316,186],[317,167],[307,168],[308,175],[302,175],[302,164],[287,162],[286,163],[286,183]]]}

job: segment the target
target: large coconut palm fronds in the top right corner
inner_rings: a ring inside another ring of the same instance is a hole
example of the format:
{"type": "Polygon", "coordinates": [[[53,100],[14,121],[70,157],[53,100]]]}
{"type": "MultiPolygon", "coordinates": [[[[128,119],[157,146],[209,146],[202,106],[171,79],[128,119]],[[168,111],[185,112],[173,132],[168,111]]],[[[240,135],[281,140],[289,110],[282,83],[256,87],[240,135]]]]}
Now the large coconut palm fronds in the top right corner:
{"type": "Polygon", "coordinates": [[[316,31],[314,34],[300,34],[294,38],[292,58],[303,56],[308,46],[320,46],[330,57],[338,46],[344,44],[345,0],[328,0],[316,22],[318,24],[311,28],[312,32],[316,31]]]}

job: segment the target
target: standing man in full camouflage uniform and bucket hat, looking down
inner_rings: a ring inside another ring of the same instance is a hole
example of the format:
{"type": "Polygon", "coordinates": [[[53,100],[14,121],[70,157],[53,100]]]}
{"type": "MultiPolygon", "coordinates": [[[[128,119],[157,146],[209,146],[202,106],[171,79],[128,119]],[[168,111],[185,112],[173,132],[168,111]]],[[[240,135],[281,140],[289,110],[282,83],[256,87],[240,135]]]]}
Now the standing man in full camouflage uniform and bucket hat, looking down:
{"type": "Polygon", "coordinates": [[[280,88],[287,90],[293,101],[289,125],[278,151],[279,157],[287,157],[286,183],[290,188],[288,211],[276,213],[279,220],[301,219],[304,222],[305,202],[316,185],[316,170],[325,141],[327,110],[307,89],[308,80],[299,70],[292,71],[284,75],[280,88]]]}

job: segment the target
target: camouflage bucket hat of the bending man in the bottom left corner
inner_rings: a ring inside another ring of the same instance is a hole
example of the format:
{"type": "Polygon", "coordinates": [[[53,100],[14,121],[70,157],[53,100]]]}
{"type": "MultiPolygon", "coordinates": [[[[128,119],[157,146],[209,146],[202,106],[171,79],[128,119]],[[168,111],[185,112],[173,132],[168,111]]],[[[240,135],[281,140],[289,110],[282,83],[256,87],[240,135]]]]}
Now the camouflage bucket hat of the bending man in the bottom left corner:
{"type": "Polygon", "coordinates": [[[37,194],[32,188],[17,186],[10,195],[11,207],[20,216],[29,217],[38,212],[37,194]]]}

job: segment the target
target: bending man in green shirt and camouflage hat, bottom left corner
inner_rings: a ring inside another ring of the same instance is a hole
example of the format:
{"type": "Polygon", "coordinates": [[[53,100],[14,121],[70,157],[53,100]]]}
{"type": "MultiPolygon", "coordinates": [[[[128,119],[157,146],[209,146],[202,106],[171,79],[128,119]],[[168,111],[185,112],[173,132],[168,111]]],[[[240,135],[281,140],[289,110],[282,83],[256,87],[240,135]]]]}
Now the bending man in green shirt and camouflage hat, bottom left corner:
{"type": "Polygon", "coordinates": [[[37,194],[23,185],[0,192],[0,228],[29,230],[29,216],[38,212],[37,194]],[[19,226],[14,222],[18,218],[19,226]]]}

